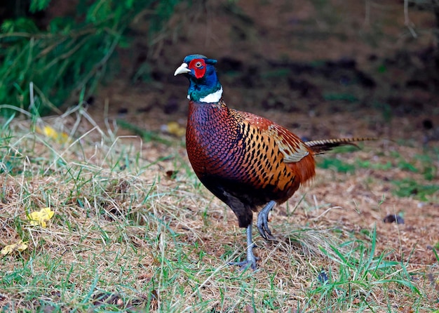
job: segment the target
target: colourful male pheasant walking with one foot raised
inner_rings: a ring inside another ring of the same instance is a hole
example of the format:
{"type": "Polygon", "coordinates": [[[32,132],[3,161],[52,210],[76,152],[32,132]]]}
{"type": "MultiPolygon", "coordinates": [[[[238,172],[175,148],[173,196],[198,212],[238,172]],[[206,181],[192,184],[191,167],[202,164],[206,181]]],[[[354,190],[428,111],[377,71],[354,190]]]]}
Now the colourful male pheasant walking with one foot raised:
{"type": "Polygon", "coordinates": [[[370,138],[304,142],[269,119],[230,109],[222,100],[216,63],[204,55],[188,55],[174,73],[189,79],[187,154],[199,180],[234,211],[239,227],[246,228],[247,257],[230,264],[256,269],[252,212],[263,206],[257,229],[264,239],[274,239],[269,212],[313,178],[314,156],[370,138]]]}

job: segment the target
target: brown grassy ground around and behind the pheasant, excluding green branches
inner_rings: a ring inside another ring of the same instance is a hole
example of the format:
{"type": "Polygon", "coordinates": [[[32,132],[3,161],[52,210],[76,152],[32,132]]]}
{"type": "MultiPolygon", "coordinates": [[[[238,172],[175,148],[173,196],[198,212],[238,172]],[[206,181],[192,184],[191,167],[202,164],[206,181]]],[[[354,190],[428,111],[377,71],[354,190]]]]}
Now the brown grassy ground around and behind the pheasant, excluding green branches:
{"type": "Polygon", "coordinates": [[[11,147],[29,155],[18,168],[32,174],[1,178],[0,239],[26,238],[24,258],[35,260],[2,259],[1,307],[68,311],[114,293],[116,308],[137,300],[165,312],[439,309],[439,83],[435,38],[424,32],[434,17],[410,11],[414,38],[400,1],[330,2],[181,6],[158,44],[137,36],[119,51],[121,73],[85,109],[40,121],[73,144],[41,131],[35,140],[30,121],[14,121],[11,147]],[[318,156],[312,184],[271,214],[277,241],[254,233],[256,272],[227,266],[243,258],[244,231],[198,182],[178,133],[187,81],[173,72],[190,53],[218,59],[234,109],[302,138],[377,138],[318,156]],[[53,207],[48,229],[29,227],[22,203],[53,207]],[[41,273],[49,278],[34,283],[41,273]]]}

